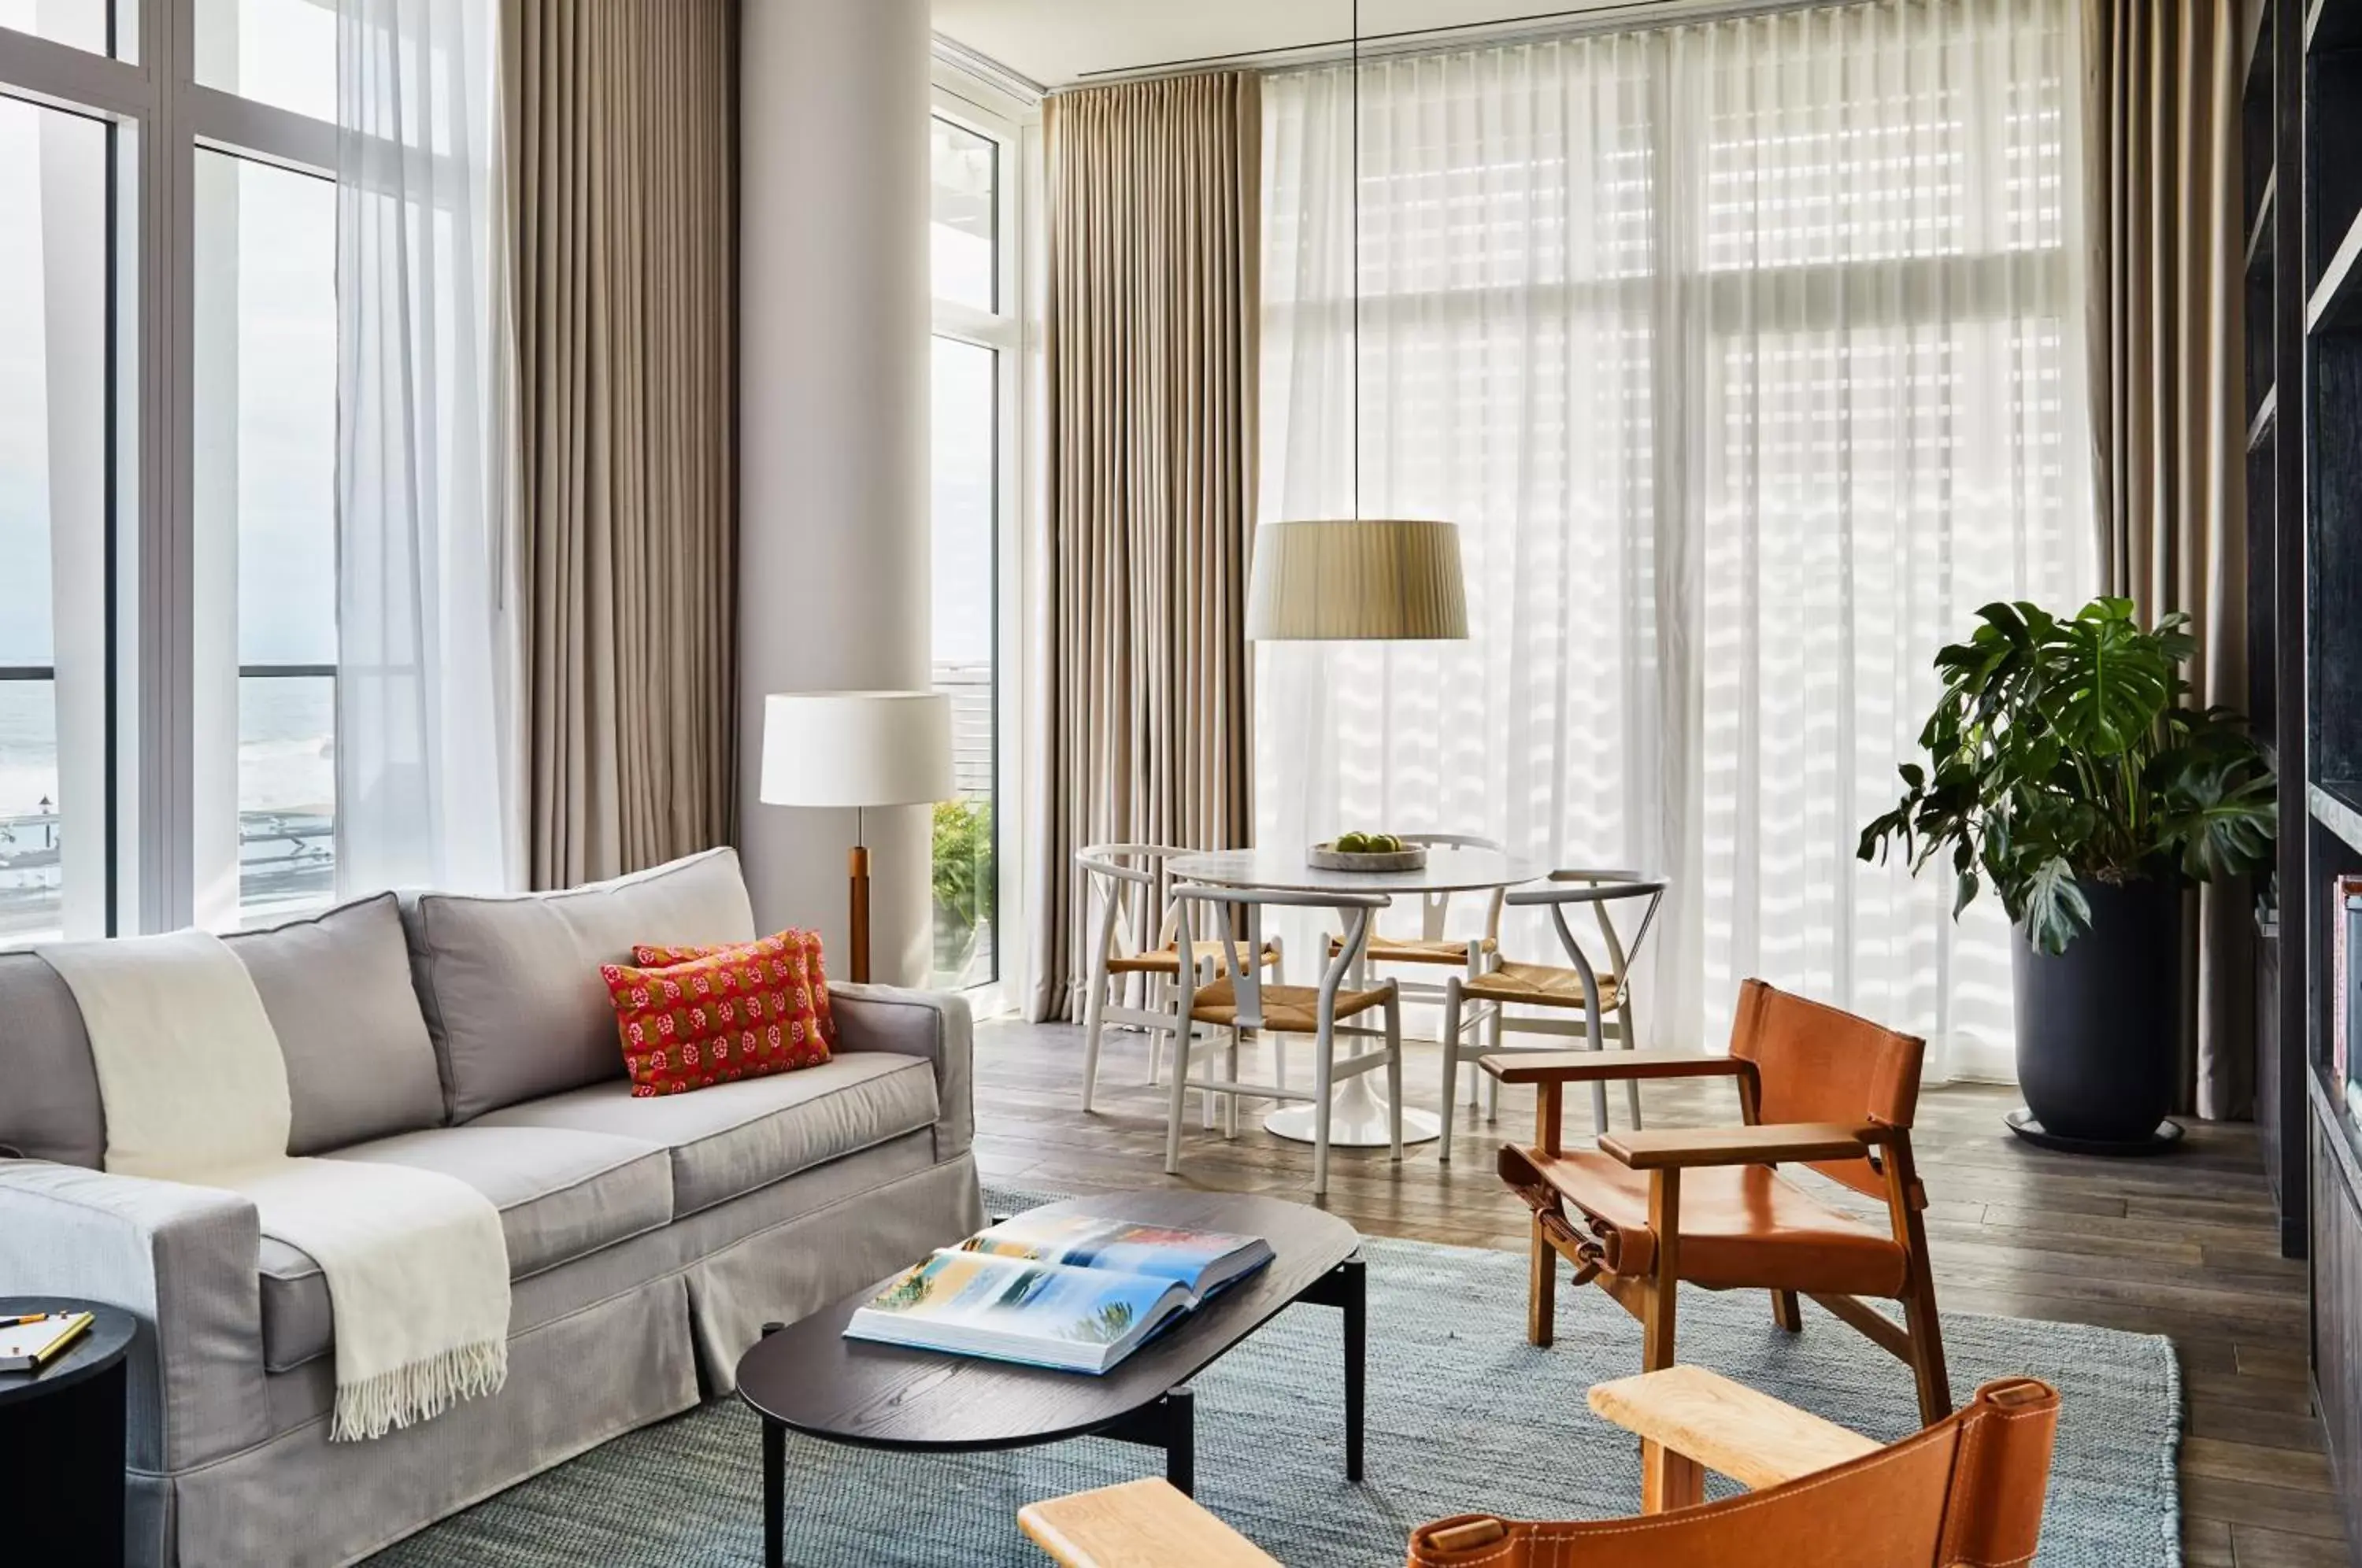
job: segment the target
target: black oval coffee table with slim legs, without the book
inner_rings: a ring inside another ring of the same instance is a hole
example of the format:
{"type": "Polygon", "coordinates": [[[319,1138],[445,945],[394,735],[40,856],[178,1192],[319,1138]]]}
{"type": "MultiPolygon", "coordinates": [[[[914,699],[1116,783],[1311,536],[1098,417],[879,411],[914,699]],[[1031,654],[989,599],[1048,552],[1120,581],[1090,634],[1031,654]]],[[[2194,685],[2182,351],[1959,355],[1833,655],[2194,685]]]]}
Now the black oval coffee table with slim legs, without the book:
{"type": "Polygon", "coordinates": [[[1103,1193],[1046,1214],[1101,1214],[1153,1226],[1231,1230],[1271,1242],[1271,1263],[1221,1292],[1103,1377],[846,1339],[846,1320],[879,1285],[779,1329],[739,1360],[739,1398],[763,1417],[763,1561],[779,1568],[787,1431],[916,1452],[1032,1448],[1117,1438],[1164,1450],[1164,1478],[1195,1485],[1188,1381],[1297,1301],[1344,1311],[1344,1474],[1361,1481],[1361,1235],[1335,1214],[1233,1193],[1103,1193]]]}

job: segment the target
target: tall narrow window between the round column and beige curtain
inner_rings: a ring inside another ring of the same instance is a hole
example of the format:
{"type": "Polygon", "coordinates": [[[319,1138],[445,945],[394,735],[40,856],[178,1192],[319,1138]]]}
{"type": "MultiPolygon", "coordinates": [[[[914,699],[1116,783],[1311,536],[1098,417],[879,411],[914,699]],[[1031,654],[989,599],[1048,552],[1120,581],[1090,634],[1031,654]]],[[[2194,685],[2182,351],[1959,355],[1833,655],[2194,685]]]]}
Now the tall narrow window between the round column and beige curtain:
{"type": "Polygon", "coordinates": [[[935,118],[933,647],[959,796],[935,808],[935,985],[1001,973],[1001,520],[1016,371],[1001,139],[935,118]]]}

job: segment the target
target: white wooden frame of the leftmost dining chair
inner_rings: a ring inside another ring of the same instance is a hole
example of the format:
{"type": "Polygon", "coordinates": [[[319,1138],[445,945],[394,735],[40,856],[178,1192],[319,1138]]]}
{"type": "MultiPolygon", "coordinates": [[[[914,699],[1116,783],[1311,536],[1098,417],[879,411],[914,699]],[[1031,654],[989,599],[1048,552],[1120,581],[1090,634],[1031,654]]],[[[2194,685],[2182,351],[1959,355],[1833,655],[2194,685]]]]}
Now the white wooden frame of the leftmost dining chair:
{"type": "MultiPolygon", "coordinates": [[[[1082,869],[1084,912],[1096,904],[1091,928],[1089,973],[1082,997],[1082,1110],[1089,1115],[1098,1093],[1098,1048],[1110,1027],[1131,1027],[1148,1034],[1148,1082],[1160,1077],[1164,1039],[1174,1027],[1174,994],[1179,987],[1176,919],[1172,900],[1172,874],[1164,869],[1176,855],[1193,850],[1164,843],[1094,843],[1075,852],[1082,869]],[[1169,959],[1169,961],[1167,961],[1169,959]],[[1138,999],[1131,982],[1138,980],[1138,999]]],[[[1195,968],[1212,980],[1214,954],[1193,954],[1195,968]]],[[[1273,985],[1285,985],[1287,961],[1280,937],[1264,942],[1264,963],[1271,966],[1273,985]]],[[[1275,1067],[1287,1082],[1287,1060],[1275,1067]]],[[[1207,1103],[1212,1112],[1212,1100],[1207,1103]]],[[[1212,1122],[1209,1122],[1212,1124],[1212,1122]]]]}

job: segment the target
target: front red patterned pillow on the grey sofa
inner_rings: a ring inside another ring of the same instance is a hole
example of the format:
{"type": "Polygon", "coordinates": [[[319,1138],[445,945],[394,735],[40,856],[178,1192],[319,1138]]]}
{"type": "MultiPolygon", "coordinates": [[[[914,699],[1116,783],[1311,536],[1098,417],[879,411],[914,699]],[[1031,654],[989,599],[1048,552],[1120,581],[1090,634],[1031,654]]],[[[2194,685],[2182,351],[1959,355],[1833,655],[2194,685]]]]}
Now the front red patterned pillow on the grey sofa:
{"type": "MultiPolygon", "coordinates": [[[[638,954],[635,954],[638,956],[638,954]]],[[[829,1060],[803,945],[744,947],[638,968],[600,963],[631,1093],[687,1093],[829,1060]]]]}

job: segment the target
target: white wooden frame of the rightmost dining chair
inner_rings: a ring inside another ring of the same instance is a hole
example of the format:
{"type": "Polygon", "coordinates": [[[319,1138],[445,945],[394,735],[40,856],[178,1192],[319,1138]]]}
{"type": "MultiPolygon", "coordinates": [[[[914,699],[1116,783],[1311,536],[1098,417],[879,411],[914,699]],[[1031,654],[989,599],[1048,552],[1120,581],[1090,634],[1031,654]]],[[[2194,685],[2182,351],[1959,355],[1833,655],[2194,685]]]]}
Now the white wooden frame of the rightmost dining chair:
{"type": "MultiPolygon", "coordinates": [[[[1668,883],[1660,878],[1642,876],[1639,871],[1597,871],[1585,867],[1568,867],[1549,874],[1549,886],[1545,888],[1519,888],[1507,893],[1505,902],[1516,909],[1549,909],[1549,923],[1559,933],[1559,947],[1573,961],[1573,975],[1580,982],[1580,1004],[1571,997],[1561,999],[1554,994],[1542,999],[1535,994],[1528,1001],[1507,999],[1476,999],[1476,1008],[1490,1008],[1490,1039],[1486,1041],[1488,1053],[1512,1053],[1512,1051],[1554,1051],[1554,1046],[1516,1046],[1505,1037],[1516,1034],[1549,1034],[1549,1037],[1580,1037],[1587,1041],[1590,1051],[1604,1051],[1606,1041],[1618,1041],[1625,1051],[1635,1048],[1632,1030],[1632,959],[1639,954],[1642,945],[1649,940],[1649,928],[1656,923],[1656,912],[1665,902],[1668,883]],[[1625,900],[1646,900],[1639,914],[1639,926],[1632,930],[1632,942],[1623,940],[1616,928],[1611,904],[1625,900]],[[1566,921],[1568,904],[1590,904],[1592,919],[1599,921],[1599,937],[1606,945],[1609,968],[1606,975],[1592,966],[1592,956],[1575,940],[1575,928],[1566,921]],[[1601,985],[1613,987],[1613,1006],[1601,1006],[1601,985]],[[1509,1006],[1549,1006],[1549,1008],[1580,1008],[1580,1018],[1509,1018],[1509,1006]]],[[[1474,954],[1472,954],[1474,956],[1474,954]]],[[[1488,966],[1490,968],[1490,966],[1488,966]]],[[[1564,973],[1564,971],[1554,971],[1564,973]]],[[[1460,1034],[1462,1034],[1462,1008],[1469,1004],[1469,987],[1483,980],[1486,971],[1474,963],[1467,975],[1453,975],[1443,982],[1443,1129],[1436,1148],[1436,1159],[1450,1164],[1453,1157],[1453,1122],[1460,1115],[1460,1034]]],[[[1625,1110],[1632,1117],[1632,1126],[1642,1126],[1639,1115],[1639,1082],[1625,1079],[1625,1110]]],[[[1500,1115],[1500,1079],[1486,1079],[1486,1119],[1500,1115]]],[[[1606,1133],[1609,1129],[1609,1091],[1606,1082],[1592,1084],[1592,1133],[1606,1133]]]]}

